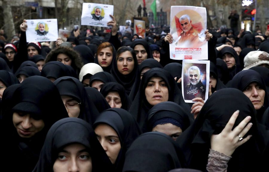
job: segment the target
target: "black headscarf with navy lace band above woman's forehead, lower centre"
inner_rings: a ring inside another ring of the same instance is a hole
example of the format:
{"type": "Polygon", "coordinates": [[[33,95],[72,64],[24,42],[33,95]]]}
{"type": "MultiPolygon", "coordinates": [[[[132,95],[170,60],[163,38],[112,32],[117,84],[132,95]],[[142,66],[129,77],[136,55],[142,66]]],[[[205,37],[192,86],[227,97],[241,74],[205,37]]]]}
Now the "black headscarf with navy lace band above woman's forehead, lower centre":
{"type": "Polygon", "coordinates": [[[150,132],[154,127],[155,122],[163,118],[175,119],[182,131],[186,130],[189,125],[189,116],[180,105],[174,102],[161,102],[151,108],[147,113],[147,120],[143,126],[143,132],[150,132]]]}

